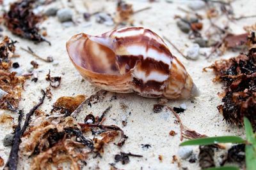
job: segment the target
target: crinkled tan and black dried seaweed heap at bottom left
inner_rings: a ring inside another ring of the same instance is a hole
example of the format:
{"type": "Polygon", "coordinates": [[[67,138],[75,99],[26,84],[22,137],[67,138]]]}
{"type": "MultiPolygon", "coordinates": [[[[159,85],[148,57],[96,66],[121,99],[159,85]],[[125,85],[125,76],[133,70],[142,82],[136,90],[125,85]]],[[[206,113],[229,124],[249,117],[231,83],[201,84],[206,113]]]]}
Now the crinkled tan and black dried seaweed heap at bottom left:
{"type": "Polygon", "coordinates": [[[44,169],[51,164],[57,166],[65,161],[71,162],[71,169],[80,169],[77,161],[85,160],[93,150],[92,141],[83,136],[72,117],[61,119],[59,124],[44,120],[34,129],[21,145],[24,155],[33,156],[31,169],[44,169]]]}

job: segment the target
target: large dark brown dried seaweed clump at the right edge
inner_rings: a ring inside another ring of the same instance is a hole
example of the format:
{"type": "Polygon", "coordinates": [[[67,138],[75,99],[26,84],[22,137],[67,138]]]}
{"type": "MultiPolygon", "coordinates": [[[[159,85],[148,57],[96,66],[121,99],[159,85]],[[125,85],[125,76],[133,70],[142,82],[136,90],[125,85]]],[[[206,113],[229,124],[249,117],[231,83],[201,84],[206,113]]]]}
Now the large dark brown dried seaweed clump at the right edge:
{"type": "Polygon", "coordinates": [[[228,60],[218,60],[212,66],[216,78],[224,84],[223,97],[218,110],[228,123],[243,125],[247,117],[256,129],[256,42],[255,34],[250,39],[250,50],[228,60]]]}

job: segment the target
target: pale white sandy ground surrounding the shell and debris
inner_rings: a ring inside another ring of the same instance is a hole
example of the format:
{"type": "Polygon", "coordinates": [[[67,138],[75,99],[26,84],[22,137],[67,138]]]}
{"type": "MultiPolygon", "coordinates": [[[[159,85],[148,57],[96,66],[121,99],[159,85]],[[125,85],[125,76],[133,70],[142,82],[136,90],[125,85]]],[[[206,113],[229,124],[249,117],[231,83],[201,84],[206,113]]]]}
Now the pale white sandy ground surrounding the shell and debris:
{"type": "MultiPolygon", "coordinates": [[[[83,5],[83,1],[73,0],[76,5],[77,11],[88,11],[83,5]]],[[[65,1],[64,1],[65,2],[65,1]]],[[[148,3],[148,1],[127,1],[127,3],[133,4],[134,10],[139,10],[147,6],[151,6],[150,10],[141,11],[133,16],[134,25],[142,26],[157,32],[159,36],[166,36],[173,44],[175,44],[182,52],[186,50],[186,46],[191,45],[192,41],[188,39],[188,35],[179,30],[176,25],[176,20],[173,19],[175,15],[184,16],[183,11],[178,10],[178,6],[182,8],[188,8],[187,4],[191,1],[173,1],[173,3],[167,3],[166,1],[158,1],[156,3],[148,3]]],[[[65,4],[65,3],[64,3],[65,4]]],[[[108,13],[115,13],[116,1],[86,1],[90,13],[104,9],[108,13]]],[[[57,1],[52,3],[51,6],[61,6],[63,3],[57,1]]],[[[234,13],[236,16],[253,15],[255,14],[256,3],[253,0],[250,1],[234,1],[232,3],[234,13]]],[[[72,8],[74,10],[74,8],[72,8]]],[[[74,11],[76,13],[76,11],[74,11]]],[[[198,10],[198,13],[204,15],[204,10],[198,10]]],[[[22,92],[22,100],[20,101],[20,109],[24,110],[24,113],[28,113],[31,107],[38,101],[41,96],[40,90],[49,86],[49,82],[45,81],[45,75],[51,69],[52,76],[61,76],[61,85],[57,89],[52,89],[52,100],[45,99],[44,104],[40,107],[40,110],[49,112],[51,111],[52,104],[61,96],[76,96],[78,94],[84,94],[90,96],[97,92],[97,88],[91,85],[88,81],[83,81],[82,76],[76,71],[75,67],[70,62],[67,51],[65,48],[66,42],[74,34],[80,32],[86,32],[86,34],[97,35],[113,29],[113,26],[106,26],[104,24],[98,24],[95,22],[95,18],[91,18],[86,22],[81,14],[76,13],[74,19],[80,21],[77,25],[71,25],[65,27],[65,25],[58,22],[58,18],[49,17],[47,20],[40,24],[40,27],[45,27],[47,30],[47,39],[51,41],[52,45],[47,43],[34,44],[32,41],[19,38],[9,32],[6,27],[4,28],[4,35],[10,36],[10,38],[19,41],[17,43],[17,53],[19,58],[13,61],[19,62],[20,67],[27,71],[30,69],[31,60],[35,60],[33,56],[20,50],[20,47],[26,48],[30,46],[35,53],[42,57],[51,55],[54,58],[53,63],[45,63],[41,60],[38,62],[38,81],[35,83],[31,80],[27,80],[24,85],[24,92],[22,92]]],[[[202,20],[204,24],[203,31],[209,27],[209,20],[202,20]]],[[[216,24],[223,25],[227,22],[227,19],[221,18],[214,21],[216,24]]],[[[230,29],[235,34],[243,33],[244,25],[252,25],[255,23],[255,18],[245,18],[235,22],[229,22],[230,29]]],[[[170,44],[167,43],[173,55],[177,56],[179,60],[184,64],[188,73],[193,78],[196,86],[200,89],[200,96],[195,99],[175,100],[168,101],[168,106],[179,107],[180,104],[185,103],[187,110],[184,113],[180,113],[180,118],[184,125],[193,129],[200,134],[206,134],[207,136],[221,136],[221,135],[237,135],[244,136],[242,128],[235,127],[234,125],[227,125],[223,121],[222,115],[218,112],[216,106],[221,104],[221,98],[217,93],[221,92],[221,84],[212,82],[214,73],[212,71],[203,72],[204,67],[210,66],[214,60],[234,57],[238,52],[226,52],[223,56],[213,55],[210,59],[205,59],[203,55],[200,55],[198,60],[184,59],[170,44]]],[[[200,48],[200,53],[207,52],[211,48],[200,48]]],[[[77,122],[83,122],[84,117],[89,113],[93,115],[100,115],[108,106],[113,107],[106,115],[105,124],[118,125],[124,130],[124,133],[129,137],[122,148],[113,143],[109,143],[104,148],[104,154],[102,158],[97,157],[93,159],[90,157],[87,162],[87,166],[83,169],[110,169],[109,163],[115,162],[114,155],[116,153],[131,152],[134,154],[143,155],[142,158],[131,157],[129,164],[122,165],[120,162],[116,164],[116,167],[120,169],[179,169],[176,163],[172,163],[173,155],[177,155],[180,144],[179,125],[175,124],[175,117],[168,110],[163,110],[160,113],[154,113],[152,108],[154,104],[158,102],[158,99],[147,99],[137,96],[136,94],[114,94],[108,92],[107,97],[102,103],[93,104],[90,106],[84,106],[83,110],[76,117],[77,122]],[[112,96],[116,96],[116,99],[109,101],[112,96]],[[127,121],[127,125],[122,125],[122,120],[127,121]],[[170,131],[177,132],[177,135],[170,136],[170,131]],[[150,148],[142,148],[142,145],[149,144],[150,148]],[[159,160],[159,155],[163,156],[163,160],[159,160]]],[[[0,141],[4,136],[10,132],[13,132],[12,125],[17,124],[17,117],[10,111],[1,110],[0,114],[8,113],[12,115],[14,120],[10,124],[0,124],[0,141]]],[[[35,117],[33,117],[35,120],[35,117]]],[[[0,142],[0,156],[3,157],[4,162],[8,159],[10,147],[4,147],[3,142],[0,142]]],[[[198,152],[195,146],[195,152],[198,152]]],[[[20,156],[19,169],[29,169],[28,157],[20,156]]],[[[65,166],[64,166],[65,167],[65,166]]],[[[68,167],[68,166],[67,166],[68,167]]],[[[188,167],[188,169],[200,169],[198,162],[191,164],[186,160],[182,161],[181,167],[188,167]]]]}

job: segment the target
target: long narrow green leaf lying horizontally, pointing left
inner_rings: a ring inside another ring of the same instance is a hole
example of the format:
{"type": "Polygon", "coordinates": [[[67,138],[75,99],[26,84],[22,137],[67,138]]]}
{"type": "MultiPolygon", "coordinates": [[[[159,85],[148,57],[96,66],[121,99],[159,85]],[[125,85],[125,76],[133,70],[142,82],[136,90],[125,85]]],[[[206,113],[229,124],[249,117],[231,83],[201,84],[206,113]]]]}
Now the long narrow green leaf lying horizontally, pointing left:
{"type": "Polygon", "coordinates": [[[191,139],[180,143],[180,146],[186,145],[212,145],[216,143],[244,143],[244,139],[238,136],[217,136],[209,138],[191,139]]]}

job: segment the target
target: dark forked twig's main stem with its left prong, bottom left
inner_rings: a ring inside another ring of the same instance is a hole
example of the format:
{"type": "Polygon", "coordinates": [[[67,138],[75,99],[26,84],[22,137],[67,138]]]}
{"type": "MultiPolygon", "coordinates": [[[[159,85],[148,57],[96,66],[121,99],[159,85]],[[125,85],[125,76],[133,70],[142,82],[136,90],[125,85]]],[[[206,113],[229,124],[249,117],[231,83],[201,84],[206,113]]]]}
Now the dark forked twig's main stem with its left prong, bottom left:
{"type": "Polygon", "coordinates": [[[20,145],[20,136],[21,136],[21,131],[20,131],[20,124],[21,120],[23,117],[23,111],[19,111],[19,118],[18,118],[18,125],[15,128],[15,135],[14,135],[14,141],[12,145],[12,149],[8,158],[8,161],[4,167],[4,169],[9,169],[9,170],[16,170],[17,169],[17,164],[19,160],[19,145],[20,145]]]}

